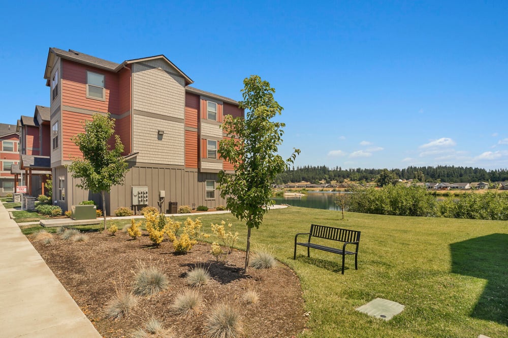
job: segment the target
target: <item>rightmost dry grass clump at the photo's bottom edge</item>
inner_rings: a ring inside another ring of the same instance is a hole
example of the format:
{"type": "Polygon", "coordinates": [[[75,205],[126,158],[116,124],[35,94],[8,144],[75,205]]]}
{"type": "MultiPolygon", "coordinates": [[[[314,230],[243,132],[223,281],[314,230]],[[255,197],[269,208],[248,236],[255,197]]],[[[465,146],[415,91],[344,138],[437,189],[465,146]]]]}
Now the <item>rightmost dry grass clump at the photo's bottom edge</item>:
{"type": "Polygon", "coordinates": [[[219,304],[205,323],[205,334],[209,338],[239,338],[243,335],[240,314],[228,304],[219,304]]]}

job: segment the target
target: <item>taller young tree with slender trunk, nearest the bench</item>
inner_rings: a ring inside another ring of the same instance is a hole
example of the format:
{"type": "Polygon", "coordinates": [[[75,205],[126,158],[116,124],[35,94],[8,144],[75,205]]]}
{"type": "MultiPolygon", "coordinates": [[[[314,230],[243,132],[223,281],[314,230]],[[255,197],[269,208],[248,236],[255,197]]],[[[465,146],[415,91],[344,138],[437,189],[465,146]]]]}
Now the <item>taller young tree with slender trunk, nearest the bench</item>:
{"type": "Polygon", "coordinates": [[[250,231],[259,228],[267,207],[273,205],[271,184],[275,177],[294,162],[300,150],[295,149],[285,161],[276,154],[285,125],[271,121],[283,109],[273,98],[275,89],[256,75],[243,80],[243,84],[239,107],[245,109],[245,118],[225,116],[222,128],[231,138],[220,141],[218,149],[220,157],[233,165],[235,173],[219,172],[218,187],[231,213],[247,223],[244,267],[247,272],[250,231]]]}

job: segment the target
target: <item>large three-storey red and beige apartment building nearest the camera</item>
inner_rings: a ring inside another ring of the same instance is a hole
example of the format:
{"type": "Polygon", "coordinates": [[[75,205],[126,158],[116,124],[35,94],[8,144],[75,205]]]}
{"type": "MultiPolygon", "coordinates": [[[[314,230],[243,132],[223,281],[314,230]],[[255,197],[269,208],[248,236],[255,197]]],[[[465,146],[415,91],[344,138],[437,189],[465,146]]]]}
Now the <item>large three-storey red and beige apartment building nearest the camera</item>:
{"type": "MultiPolygon", "coordinates": [[[[133,189],[148,191],[147,205],[226,204],[217,173],[231,171],[219,158],[225,115],[243,117],[238,102],[189,85],[193,81],[164,55],[115,63],[74,50],[50,48],[44,73],[50,87],[50,168],[53,200],[63,210],[99,195],[76,187],[66,165],[82,154],[71,141],[95,113],[115,119],[115,133],[129,163],[125,183],[106,197],[106,213],[139,206],[133,189]],[[160,192],[163,192],[164,198],[160,192]]],[[[99,205],[101,205],[99,204],[99,205]]]]}

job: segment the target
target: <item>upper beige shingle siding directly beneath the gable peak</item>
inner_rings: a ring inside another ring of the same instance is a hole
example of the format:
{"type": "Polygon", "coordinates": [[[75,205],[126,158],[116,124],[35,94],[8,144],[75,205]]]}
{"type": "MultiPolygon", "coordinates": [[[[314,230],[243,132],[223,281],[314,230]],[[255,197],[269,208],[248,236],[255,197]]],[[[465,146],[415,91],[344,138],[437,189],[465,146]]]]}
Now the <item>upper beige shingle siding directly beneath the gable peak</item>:
{"type": "Polygon", "coordinates": [[[151,60],[133,65],[133,108],[183,119],[184,79],[168,73],[169,69],[162,68],[160,61],[151,60]]]}

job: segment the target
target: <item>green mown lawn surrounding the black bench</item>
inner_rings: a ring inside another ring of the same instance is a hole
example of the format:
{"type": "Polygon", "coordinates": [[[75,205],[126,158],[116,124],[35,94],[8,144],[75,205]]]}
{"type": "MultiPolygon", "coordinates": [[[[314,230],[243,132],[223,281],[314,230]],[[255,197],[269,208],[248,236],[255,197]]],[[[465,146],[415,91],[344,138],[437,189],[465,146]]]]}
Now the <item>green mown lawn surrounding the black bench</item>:
{"type": "MultiPolygon", "coordinates": [[[[211,222],[234,223],[238,247],[245,247],[244,223],[231,214],[197,216],[207,232],[211,222]]],[[[119,227],[126,223],[117,221],[119,227]]],[[[299,276],[310,311],[304,337],[508,336],[506,221],[351,212],[341,220],[338,211],[290,207],[265,215],[252,242],[271,246],[299,276]],[[359,270],[353,257],[346,257],[341,275],[340,256],[314,250],[309,259],[303,247],[293,260],[294,236],[307,232],[310,223],[362,231],[359,270]],[[355,310],[377,297],[405,310],[388,322],[355,310]]]]}

